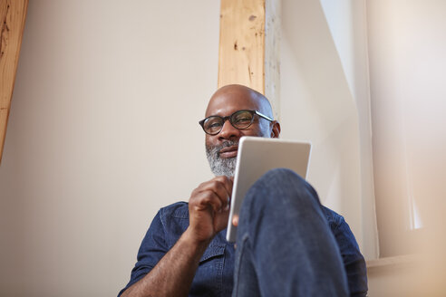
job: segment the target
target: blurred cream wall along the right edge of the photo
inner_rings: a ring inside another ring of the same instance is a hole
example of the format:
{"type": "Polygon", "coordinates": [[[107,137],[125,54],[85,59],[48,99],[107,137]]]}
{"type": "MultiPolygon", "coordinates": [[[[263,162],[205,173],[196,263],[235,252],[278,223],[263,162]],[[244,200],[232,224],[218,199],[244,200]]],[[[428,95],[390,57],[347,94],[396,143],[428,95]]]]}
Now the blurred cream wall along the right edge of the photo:
{"type": "Polygon", "coordinates": [[[412,202],[424,227],[444,209],[446,2],[373,0],[367,17],[381,252],[407,254],[412,202]]]}

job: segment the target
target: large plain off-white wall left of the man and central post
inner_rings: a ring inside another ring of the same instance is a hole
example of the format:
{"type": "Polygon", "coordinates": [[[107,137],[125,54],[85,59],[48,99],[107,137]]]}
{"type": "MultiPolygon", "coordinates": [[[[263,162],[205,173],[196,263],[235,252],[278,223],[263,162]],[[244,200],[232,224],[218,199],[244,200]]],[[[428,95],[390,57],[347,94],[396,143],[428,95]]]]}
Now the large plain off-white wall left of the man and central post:
{"type": "Polygon", "coordinates": [[[30,1],[0,167],[0,295],[112,296],[210,177],[216,1],[30,1]]]}

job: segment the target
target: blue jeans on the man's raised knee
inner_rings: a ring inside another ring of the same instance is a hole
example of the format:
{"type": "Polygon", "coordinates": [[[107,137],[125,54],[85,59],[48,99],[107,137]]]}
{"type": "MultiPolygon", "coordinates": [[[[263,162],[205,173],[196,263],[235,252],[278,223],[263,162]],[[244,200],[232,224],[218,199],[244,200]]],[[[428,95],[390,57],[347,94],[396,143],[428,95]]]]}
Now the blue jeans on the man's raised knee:
{"type": "Polygon", "coordinates": [[[348,294],[339,248],[315,190],[289,169],[267,172],[240,210],[232,296],[348,294]]]}

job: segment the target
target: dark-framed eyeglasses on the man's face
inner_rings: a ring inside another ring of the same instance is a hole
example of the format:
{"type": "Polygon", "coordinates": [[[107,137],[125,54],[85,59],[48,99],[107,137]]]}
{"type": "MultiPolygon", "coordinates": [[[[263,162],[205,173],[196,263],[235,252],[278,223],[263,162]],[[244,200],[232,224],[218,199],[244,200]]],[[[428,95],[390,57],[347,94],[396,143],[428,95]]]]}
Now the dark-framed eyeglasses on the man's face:
{"type": "Polygon", "coordinates": [[[228,117],[210,116],[205,120],[200,120],[199,125],[207,134],[217,135],[223,129],[223,124],[226,120],[229,120],[234,128],[247,129],[254,122],[255,114],[265,120],[273,121],[273,119],[257,110],[238,110],[228,117]]]}

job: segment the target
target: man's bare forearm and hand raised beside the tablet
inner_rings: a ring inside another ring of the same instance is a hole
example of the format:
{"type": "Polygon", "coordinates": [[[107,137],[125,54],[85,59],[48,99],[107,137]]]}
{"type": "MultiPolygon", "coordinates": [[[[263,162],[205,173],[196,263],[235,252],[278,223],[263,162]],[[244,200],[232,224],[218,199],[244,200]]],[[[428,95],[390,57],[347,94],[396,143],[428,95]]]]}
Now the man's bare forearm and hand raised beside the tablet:
{"type": "Polygon", "coordinates": [[[232,177],[215,177],[193,190],[189,227],[159,263],[121,296],[187,296],[199,259],[228,224],[232,177]]]}

